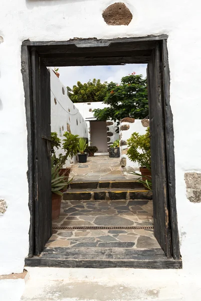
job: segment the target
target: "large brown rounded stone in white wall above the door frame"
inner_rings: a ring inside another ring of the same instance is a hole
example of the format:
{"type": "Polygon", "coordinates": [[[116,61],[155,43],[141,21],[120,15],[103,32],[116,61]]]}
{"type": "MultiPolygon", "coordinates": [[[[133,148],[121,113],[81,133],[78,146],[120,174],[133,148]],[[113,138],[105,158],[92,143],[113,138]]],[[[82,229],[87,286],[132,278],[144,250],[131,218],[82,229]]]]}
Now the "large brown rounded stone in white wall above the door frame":
{"type": "Polygon", "coordinates": [[[124,3],[117,2],[103,11],[103,19],[107,25],[128,25],[133,16],[124,3]]]}

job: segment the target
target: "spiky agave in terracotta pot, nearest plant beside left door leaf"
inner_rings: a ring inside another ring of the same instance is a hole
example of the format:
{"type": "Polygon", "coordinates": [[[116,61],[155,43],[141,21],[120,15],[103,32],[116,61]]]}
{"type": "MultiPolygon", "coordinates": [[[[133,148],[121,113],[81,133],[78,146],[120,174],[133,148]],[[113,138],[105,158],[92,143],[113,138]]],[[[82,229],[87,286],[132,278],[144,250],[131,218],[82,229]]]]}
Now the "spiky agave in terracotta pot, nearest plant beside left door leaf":
{"type": "Polygon", "coordinates": [[[63,191],[66,190],[70,184],[70,181],[66,176],[60,176],[59,171],[61,165],[58,163],[54,165],[55,156],[51,158],[51,190],[52,190],[52,220],[56,220],[60,216],[61,211],[61,200],[63,191]]]}

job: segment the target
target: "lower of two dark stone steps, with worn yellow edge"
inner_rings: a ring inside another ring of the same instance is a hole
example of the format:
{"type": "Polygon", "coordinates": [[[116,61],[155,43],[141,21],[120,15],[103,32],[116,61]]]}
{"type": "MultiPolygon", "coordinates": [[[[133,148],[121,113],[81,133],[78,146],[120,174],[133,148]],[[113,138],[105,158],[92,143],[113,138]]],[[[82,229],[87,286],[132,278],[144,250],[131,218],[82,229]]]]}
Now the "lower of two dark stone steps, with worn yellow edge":
{"type": "Polygon", "coordinates": [[[152,200],[152,192],[144,189],[68,189],[64,201],[94,200],[152,200]]]}

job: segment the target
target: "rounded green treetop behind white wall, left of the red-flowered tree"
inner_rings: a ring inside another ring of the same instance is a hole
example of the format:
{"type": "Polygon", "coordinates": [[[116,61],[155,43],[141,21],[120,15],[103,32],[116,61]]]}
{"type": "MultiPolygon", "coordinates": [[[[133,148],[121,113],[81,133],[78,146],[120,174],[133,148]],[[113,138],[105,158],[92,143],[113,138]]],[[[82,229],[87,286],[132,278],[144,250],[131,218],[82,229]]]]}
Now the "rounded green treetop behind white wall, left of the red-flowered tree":
{"type": "Polygon", "coordinates": [[[101,83],[100,79],[89,80],[87,83],[82,84],[77,82],[73,89],[68,89],[69,98],[73,102],[93,102],[103,101],[107,93],[107,82],[101,83]]]}

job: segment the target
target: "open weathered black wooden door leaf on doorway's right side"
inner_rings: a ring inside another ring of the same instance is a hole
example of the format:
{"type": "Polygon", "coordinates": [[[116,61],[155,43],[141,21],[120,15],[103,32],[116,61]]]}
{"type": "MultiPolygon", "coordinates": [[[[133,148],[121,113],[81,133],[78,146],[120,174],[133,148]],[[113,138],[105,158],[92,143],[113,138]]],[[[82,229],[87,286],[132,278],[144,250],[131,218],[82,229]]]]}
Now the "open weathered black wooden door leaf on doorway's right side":
{"type": "Polygon", "coordinates": [[[156,42],[147,66],[153,220],[155,237],[167,258],[171,258],[161,64],[160,45],[156,42]]]}

